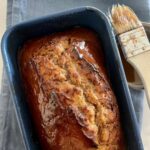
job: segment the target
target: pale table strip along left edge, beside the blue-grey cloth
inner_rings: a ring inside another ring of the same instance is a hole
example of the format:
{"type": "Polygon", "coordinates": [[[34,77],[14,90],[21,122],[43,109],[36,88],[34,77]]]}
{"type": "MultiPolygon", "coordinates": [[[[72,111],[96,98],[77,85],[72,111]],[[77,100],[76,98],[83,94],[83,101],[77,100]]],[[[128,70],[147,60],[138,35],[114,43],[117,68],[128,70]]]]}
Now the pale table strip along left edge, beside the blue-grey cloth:
{"type": "MultiPolygon", "coordinates": [[[[6,8],[7,8],[7,0],[0,0],[0,41],[3,33],[6,29],[6,8]]],[[[2,81],[2,69],[3,69],[3,61],[0,52],[0,90],[1,90],[1,81],[2,81]]]]}

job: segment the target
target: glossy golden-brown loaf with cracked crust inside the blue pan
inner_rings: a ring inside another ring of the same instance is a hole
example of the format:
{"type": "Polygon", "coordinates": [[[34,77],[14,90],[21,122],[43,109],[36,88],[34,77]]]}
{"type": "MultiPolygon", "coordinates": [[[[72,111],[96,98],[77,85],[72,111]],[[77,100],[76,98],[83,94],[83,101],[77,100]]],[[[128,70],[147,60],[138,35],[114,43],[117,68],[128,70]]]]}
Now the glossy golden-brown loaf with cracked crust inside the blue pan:
{"type": "Polygon", "coordinates": [[[19,63],[44,150],[124,149],[119,110],[95,33],[74,28],[28,41],[19,63]]]}

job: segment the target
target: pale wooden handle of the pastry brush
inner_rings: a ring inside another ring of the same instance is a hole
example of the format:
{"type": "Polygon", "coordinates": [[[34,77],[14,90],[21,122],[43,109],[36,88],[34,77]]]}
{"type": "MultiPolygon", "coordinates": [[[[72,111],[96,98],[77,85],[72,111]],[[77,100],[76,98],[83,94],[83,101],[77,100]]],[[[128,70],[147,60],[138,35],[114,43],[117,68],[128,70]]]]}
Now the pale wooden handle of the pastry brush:
{"type": "Polygon", "coordinates": [[[127,61],[135,68],[142,79],[150,108],[150,50],[130,57],[127,61]]]}

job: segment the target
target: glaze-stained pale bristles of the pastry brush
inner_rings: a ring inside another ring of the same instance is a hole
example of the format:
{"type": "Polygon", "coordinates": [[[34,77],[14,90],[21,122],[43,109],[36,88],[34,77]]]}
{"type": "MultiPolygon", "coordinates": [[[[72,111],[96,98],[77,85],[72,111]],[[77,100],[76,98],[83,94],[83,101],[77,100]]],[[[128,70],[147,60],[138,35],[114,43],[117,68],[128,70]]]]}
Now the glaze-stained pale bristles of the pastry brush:
{"type": "Polygon", "coordinates": [[[142,26],[141,21],[131,8],[125,5],[113,5],[108,16],[117,34],[121,34],[142,26]]]}

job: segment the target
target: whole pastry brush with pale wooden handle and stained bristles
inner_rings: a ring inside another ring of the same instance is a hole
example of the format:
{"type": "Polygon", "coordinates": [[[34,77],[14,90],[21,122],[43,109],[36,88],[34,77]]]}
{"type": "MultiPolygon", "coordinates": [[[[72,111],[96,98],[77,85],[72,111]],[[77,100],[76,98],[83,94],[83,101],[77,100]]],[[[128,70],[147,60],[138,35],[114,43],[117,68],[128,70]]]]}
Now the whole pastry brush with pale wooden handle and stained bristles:
{"type": "Polygon", "coordinates": [[[142,79],[150,107],[150,42],[144,27],[128,6],[114,5],[108,15],[127,62],[142,79]]]}

